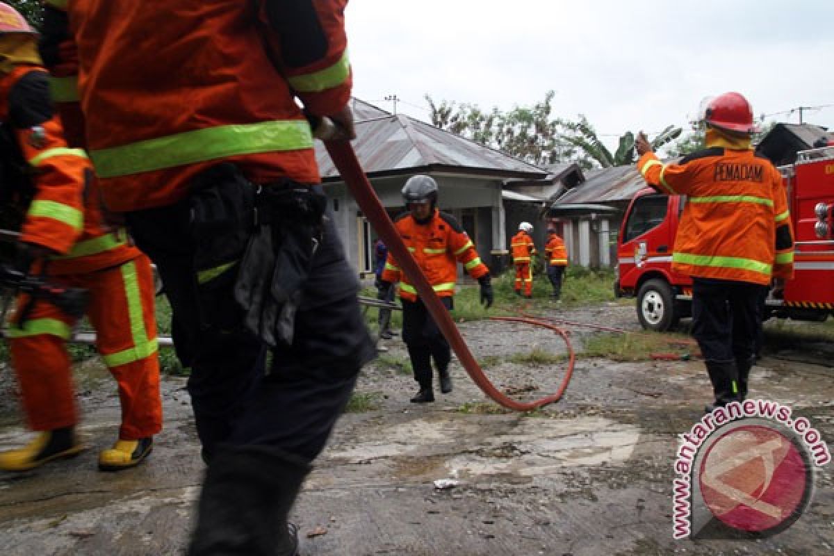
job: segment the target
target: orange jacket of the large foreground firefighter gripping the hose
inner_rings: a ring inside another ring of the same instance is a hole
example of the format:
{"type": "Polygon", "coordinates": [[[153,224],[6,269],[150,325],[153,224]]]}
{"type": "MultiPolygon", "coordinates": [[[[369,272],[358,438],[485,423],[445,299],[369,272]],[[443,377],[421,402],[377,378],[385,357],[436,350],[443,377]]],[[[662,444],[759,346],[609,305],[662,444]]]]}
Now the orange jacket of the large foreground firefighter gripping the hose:
{"type": "Polygon", "coordinates": [[[58,78],[56,100],[80,99],[111,210],[174,203],[220,161],[255,183],[319,182],[295,98],[314,116],[348,103],[347,0],[309,10],[283,0],[47,3],[44,58],[58,78]]]}

